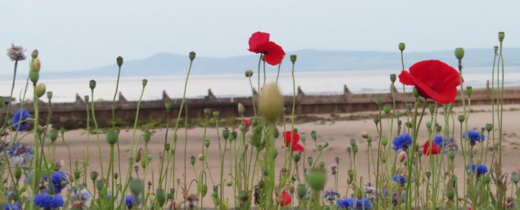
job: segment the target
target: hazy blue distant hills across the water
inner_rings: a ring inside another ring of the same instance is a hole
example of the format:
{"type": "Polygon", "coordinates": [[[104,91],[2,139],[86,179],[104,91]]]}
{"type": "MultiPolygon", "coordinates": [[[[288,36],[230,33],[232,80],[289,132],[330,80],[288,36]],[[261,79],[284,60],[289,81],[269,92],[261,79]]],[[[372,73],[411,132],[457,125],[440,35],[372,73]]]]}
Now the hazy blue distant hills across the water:
{"type": "MultiPolygon", "coordinates": [[[[282,69],[291,68],[288,59],[290,54],[296,54],[297,71],[349,71],[349,70],[386,70],[400,69],[399,52],[362,52],[362,51],[319,51],[300,50],[287,52],[283,60],[282,69]]],[[[520,66],[520,48],[504,48],[506,66],[520,66]]],[[[412,52],[405,51],[405,65],[425,59],[439,59],[455,66],[456,59],[453,51],[412,52]]],[[[465,67],[490,67],[492,65],[493,50],[466,49],[463,65],[465,67]]],[[[125,60],[122,70],[123,76],[172,76],[185,75],[188,69],[188,55],[158,53],[141,60],[125,60]]],[[[256,72],[258,55],[235,56],[228,58],[210,58],[197,56],[192,67],[193,75],[220,75],[243,73],[246,69],[256,72]]],[[[276,72],[277,67],[268,66],[268,72],[276,72]]],[[[99,77],[115,77],[117,66],[103,66],[80,71],[58,72],[46,71],[46,78],[78,78],[96,75],[99,77]]]]}

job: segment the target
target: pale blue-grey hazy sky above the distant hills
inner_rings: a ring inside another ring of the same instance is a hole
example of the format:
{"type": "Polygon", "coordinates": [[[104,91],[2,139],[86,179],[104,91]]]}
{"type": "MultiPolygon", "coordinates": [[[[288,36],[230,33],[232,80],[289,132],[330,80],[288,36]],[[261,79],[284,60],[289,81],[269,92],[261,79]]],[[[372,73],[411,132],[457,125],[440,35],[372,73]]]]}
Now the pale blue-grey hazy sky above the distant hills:
{"type": "MultiPolygon", "coordinates": [[[[499,31],[504,46],[519,47],[518,8],[520,1],[481,0],[2,1],[0,49],[38,49],[42,70],[73,71],[160,52],[248,55],[256,31],[286,52],[392,52],[399,42],[407,52],[491,48],[499,31]]],[[[0,55],[0,75],[12,67],[0,55]]]]}

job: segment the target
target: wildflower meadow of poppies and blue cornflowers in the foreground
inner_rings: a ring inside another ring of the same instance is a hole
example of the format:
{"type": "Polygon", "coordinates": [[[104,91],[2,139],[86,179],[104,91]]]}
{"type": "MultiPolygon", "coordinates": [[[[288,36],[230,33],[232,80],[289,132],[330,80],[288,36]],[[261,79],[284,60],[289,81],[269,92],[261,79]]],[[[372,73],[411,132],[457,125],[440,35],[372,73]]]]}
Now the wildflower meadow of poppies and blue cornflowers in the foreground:
{"type": "MultiPolygon", "coordinates": [[[[251,89],[254,115],[245,116],[245,107],[238,103],[240,123],[226,127],[219,125],[219,110],[204,109],[202,128],[188,129],[186,89],[190,72],[197,69],[196,53],[190,52],[186,58],[188,73],[183,99],[180,104],[165,103],[162,110],[167,118],[162,127],[166,130],[164,136],[138,129],[139,99],[134,126],[129,129],[131,140],[121,145],[122,129],[116,126],[115,100],[125,71],[123,58],[117,57],[110,127],[98,127],[95,103],[96,92],[113,90],[98,90],[96,81],[88,81],[89,78],[79,84],[88,85],[91,91],[84,96],[84,129],[89,141],[97,145],[85,146],[82,158],[72,158],[78,154],[71,154],[71,131],[51,126],[53,92],[39,81],[40,74],[45,73],[40,52],[34,50],[26,56],[27,49],[12,44],[7,50],[14,64],[9,99],[19,98],[20,108],[12,110],[11,100],[0,97],[0,114],[5,115],[0,122],[0,207],[517,209],[518,171],[503,168],[503,98],[507,78],[503,41],[504,32],[499,32],[497,46],[489,50],[488,105],[492,110],[491,118],[475,122],[481,129],[468,126],[476,118],[472,118],[471,112],[473,90],[464,82],[463,48],[455,48],[451,60],[422,60],[405,66],[406,46],[399,43],[396,51],[401,59],[396,62],[402,64],[402,71],[388,75],[391,100],[373,98],[379,111],[373,117],[372,129],[355,131],[358,138],[343,139],[343,146],[336,148],[330,148],[328,140],[320,138],[319,133],[324,131],[297,128],[294,72],[298,71],[298,57],[285,55],[282,46],[271,41],[269,33],[255,32],[249,38],[248,50],[258,56],[258,68],[245,70],[243,79],[250,84],[244,88],[251,89]],[[17,74],[25,71],[19,63],[26,59],[29,69],[25,88],[16,93],[17,74]],[[292,85],[291,104],[284,104],[279,90],[282,62],[292,64],[293,83],[283,84],[292,85]],[[278,66],[276,80],[266,81],[266,65],[278,66]],[[34,94],[28,94],[28,90],[34,94]],[[396,102],[396,90],[405,96],[404,104],[396,102]],[[456,98],[462,106],[454,107],[456,98]],[[24,103],[28,101],[31,103],[24,103]],[[49,104],[46,117],[39,114],[41,101],[49,104]],[[461,111],[454,112],[456,108],[461,111]],[[190,148],[198,151],[195,154],[187,152],[190,135],[196,135],[199,142],[193,146],[196,149],[190,148]],[[106,146],[109,150],[101,149],[106,146]],[[341,150],[341,155],[326,156],[329,149],[341,150]],[[57,151],[67,151],[68,158],[58,159],[57,151]],[[179,158],[184,161],[179,162],[179,158]]],[[[244,47],[247,48],[246,43],[244,47]]],[[[147,84],[146,79],[138,84],[142,85],[140,98],[147,84]]],[[[348,129],[352,128],[344,128],[348,129]]]]}

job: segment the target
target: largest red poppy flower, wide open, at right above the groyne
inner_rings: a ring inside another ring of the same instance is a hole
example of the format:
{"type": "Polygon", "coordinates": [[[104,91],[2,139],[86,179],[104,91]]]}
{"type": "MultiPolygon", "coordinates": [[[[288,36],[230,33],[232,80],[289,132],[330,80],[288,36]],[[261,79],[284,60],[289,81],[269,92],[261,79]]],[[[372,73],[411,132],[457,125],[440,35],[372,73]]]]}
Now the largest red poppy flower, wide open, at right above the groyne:
{"type": "Polygon", "coordinates": [[[459,72],[440,60],[423,60],[401,71],[399,81],[414,85],[419,94],[440,104],[449,104],[457,96],[460,85],[459,72]]]}

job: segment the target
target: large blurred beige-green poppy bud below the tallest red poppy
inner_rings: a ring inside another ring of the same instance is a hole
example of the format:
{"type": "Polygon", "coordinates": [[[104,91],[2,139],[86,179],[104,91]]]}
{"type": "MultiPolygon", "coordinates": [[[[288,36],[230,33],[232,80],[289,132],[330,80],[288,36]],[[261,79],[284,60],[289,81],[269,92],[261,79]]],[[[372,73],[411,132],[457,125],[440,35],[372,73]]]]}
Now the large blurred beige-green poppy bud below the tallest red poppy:
{"type": "Polygon", "coordinates": [[[274,122],[282,114],[283,98],[280,95],[278,85],[269,83],[264,85],[258,98],[258,110],[267,119],[274,122]]]}

